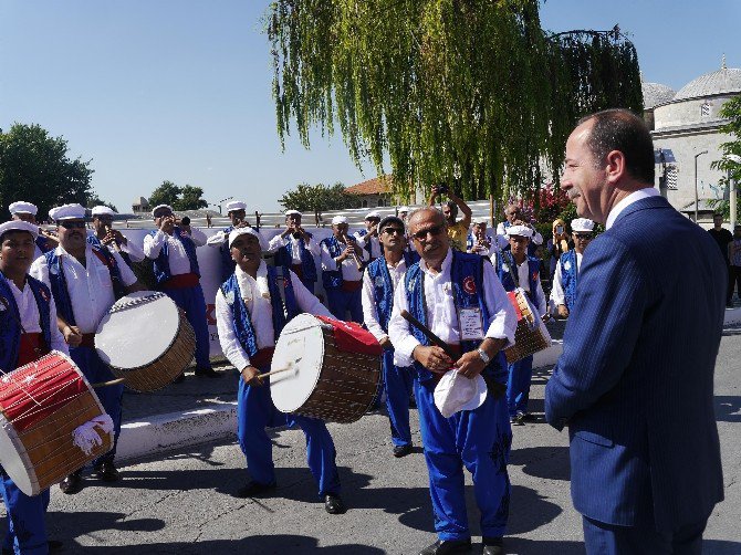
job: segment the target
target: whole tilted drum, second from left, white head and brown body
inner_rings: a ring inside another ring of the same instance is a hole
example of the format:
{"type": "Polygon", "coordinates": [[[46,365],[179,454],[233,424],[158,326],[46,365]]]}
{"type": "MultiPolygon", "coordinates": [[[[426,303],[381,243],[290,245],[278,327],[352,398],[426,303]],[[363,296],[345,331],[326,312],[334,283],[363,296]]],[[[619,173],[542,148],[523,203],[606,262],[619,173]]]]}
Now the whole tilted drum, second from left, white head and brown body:
{"type": "Polygon", "coordinates": [[[95,348],[127,387],[154,391],[190,364],[196,334],[185,312],[165,293],[137,291],[119,299],[101,321],[95,348]]]}

